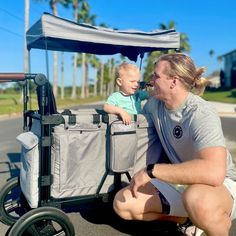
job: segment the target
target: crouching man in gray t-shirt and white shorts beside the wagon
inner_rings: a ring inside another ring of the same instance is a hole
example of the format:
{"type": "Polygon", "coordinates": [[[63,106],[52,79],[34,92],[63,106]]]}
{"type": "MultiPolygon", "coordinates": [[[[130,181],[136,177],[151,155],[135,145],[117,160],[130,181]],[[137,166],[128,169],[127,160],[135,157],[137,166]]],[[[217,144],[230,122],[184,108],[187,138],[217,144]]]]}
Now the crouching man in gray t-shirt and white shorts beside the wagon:
{"type": "Polygon", "coordinates": [[[117,193],[114,209],[122,218],[183,223],[188,217],[208,236],[229,234],[236,218],[236,168],[216,111],[198,96],[208,84],[203,72],[181,53],[158,59],[157,95],[145,111],[169,161],[148,165],[117,193]]]}

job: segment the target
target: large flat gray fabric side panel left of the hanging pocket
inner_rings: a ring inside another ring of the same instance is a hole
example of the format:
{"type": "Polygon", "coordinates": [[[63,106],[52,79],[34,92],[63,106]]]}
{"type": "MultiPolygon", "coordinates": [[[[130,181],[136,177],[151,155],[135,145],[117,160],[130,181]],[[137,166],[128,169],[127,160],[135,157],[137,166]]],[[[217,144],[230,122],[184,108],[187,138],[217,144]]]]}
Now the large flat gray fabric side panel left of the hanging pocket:
{"type": "MultiPolygon", "coordinates": [[[[106,173],[106,127],[94,109],[72,111],[76,124],[54,127],[51,194],[55,198],[95,194],[106,173]],[[96,118],[96,122],[94,122],[96,118]]],[[[105,190],[110,183],[105,184],[105,190]]]]}

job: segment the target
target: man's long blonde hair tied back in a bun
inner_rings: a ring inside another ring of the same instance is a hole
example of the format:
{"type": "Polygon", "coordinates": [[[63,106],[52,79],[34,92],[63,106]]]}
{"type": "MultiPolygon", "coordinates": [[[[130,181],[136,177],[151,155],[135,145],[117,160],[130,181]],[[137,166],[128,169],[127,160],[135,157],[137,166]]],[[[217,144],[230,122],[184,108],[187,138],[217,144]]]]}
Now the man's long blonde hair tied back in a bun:
{"type": "Polygon", "coordinates": [[[157,62],[167,61],[169,68],[166,68],[168,76],[178,76],[183,86],[193,93],[201,96],[205,87],[211,82],[202,77],[204,67],[196,68],[193,60],[182,53],[164,54],[157,59],[157,62]]]}

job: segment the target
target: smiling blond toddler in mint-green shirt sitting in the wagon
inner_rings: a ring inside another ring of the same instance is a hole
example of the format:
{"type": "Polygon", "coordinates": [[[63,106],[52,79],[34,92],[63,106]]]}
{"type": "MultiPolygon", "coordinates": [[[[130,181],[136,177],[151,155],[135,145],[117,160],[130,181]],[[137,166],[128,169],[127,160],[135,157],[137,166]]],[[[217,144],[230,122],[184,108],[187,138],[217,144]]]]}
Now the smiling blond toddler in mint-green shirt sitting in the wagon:
{"type": "Polygon", "coordinates": [[[119,92],[112,93],[104,105],[104,111],[119,115],[126,125],[131,123],[131,114],[141,112],[141,101],[149,97],[147,91],[138,90],[140,78],[136,65],[123,62],[117,69],[119,92]]]}

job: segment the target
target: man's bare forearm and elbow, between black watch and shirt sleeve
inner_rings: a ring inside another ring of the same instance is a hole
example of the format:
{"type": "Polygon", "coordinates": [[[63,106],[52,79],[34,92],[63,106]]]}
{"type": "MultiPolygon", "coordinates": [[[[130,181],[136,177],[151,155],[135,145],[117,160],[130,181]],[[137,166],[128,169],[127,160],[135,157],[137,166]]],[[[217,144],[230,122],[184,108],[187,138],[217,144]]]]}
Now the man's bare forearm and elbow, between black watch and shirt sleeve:
{"type": "Polygon", "coordinates": [[[201,158],[179,164],[156,164],[152,173],[162,181],[175,184],[221,185],[226,174],[223,148],[209,148],[203,154],[207,154],[207,157],[200,156],[201,158]]]}

